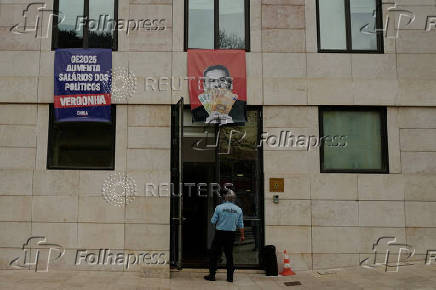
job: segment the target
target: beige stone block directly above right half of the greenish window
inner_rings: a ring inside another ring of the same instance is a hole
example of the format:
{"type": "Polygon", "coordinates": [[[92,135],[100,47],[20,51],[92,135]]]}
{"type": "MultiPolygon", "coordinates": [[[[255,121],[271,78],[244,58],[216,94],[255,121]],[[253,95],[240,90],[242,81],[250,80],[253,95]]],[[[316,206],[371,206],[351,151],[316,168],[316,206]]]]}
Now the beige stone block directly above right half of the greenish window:
{"type": "Polygon", "coordinates": [[[355,105],[395,105],[399,91],[398,80],[353,80],[355,105]]]}

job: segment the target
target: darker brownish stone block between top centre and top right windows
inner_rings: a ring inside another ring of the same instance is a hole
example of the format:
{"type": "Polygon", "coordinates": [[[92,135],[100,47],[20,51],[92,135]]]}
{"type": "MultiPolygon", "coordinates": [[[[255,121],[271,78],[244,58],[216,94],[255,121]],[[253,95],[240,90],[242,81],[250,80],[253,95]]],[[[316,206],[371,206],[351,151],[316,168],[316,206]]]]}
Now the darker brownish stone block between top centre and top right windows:
{"type": "Polygon", "coordinates": [[[304,6],[262,6],[262,28],[301,29],[305,26],[304,20],[304,6]]]}

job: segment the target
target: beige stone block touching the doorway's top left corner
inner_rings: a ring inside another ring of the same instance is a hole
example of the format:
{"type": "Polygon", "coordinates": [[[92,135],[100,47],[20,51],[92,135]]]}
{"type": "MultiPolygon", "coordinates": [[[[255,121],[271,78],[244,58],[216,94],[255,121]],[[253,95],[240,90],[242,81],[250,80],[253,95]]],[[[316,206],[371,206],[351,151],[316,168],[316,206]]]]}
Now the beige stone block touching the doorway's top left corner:
{"type": "Polygon", "coordinates": [[[169,127],[171,107],[166,105],[131,105],[127,109],[129,126],[169,127]]]}

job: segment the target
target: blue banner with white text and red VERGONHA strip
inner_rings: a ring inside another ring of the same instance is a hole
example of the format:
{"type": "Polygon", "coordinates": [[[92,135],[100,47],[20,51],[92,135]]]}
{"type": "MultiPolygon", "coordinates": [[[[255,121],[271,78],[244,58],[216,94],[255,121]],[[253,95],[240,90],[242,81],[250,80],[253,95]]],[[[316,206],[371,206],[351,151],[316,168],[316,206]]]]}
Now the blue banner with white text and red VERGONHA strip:
{"type": "Polygon", "coordinates": [[[111,49],[57,49],[54,108],[58,122],[111,121],[111,49]]]}

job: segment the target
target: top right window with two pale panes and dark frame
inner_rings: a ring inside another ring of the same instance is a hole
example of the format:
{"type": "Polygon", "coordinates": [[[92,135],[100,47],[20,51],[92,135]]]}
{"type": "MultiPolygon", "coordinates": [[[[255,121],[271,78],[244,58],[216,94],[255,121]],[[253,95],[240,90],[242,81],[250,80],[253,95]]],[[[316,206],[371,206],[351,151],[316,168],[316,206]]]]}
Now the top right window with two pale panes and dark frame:
{"type": "Polygon", "coordinates": [[[319,52],[383,53],[381,0],[317,0],[319,52]]]}

